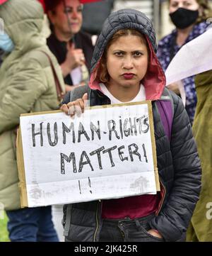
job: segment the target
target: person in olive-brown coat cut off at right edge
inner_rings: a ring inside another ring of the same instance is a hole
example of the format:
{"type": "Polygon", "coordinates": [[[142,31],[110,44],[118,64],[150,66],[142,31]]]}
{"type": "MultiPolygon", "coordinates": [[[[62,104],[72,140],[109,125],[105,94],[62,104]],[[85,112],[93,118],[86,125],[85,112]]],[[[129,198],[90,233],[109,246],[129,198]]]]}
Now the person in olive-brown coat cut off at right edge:
{"type": "Polygon", "coordinates": [[[192,221],[189,242],[212,241],[212,70],[195,77],[197,105],[192,127],[202,167],[202,187],[192,221]]]}

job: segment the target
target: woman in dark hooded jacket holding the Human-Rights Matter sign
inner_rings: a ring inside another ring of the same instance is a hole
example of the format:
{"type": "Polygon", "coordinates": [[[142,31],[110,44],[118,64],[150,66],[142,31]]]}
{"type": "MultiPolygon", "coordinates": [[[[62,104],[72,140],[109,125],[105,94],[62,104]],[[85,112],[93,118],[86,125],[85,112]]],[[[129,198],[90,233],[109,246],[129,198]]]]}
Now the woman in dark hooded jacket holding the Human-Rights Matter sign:
{"type": "Polygon", "coordinates": [[[64,206],[66,241],[185,238],[199,198],[201,167],[189,118],[181,99],[165,89],[156,50],[152,23],[143,13],[112,13],[93,53],[89,88],[66,94],[61,110],[73,116],[84,111],[86,99],[90,106],[151,100],[160,192],[64,206]],[[158,104],[162,96],[166,110],[158,104]]]}

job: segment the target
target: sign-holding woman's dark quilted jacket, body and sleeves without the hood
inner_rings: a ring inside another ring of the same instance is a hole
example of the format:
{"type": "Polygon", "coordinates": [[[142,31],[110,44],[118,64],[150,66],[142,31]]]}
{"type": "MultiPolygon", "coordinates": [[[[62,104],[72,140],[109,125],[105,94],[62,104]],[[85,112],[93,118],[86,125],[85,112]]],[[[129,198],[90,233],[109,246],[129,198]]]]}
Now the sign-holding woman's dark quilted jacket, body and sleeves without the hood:
{"type": "MultiPolygon", "coordinates": [[[[76,99],[86,92],[83,88],[81,90],[81,95],[76,95],[76,99]]],[[[177,241],[184,240],[199,199],[201,167],[187,112],[179,96],[171,91],[170,93],[174,103],[170,141],[165,135],[155,101],[152,102],[158,172],[165,195],[160,202],[160,211],[149,224],[153,229],[159,230],[165,240],[177,241]]],[[[69,94],[66,94],[63,104],[70,101],[69,94]]],[[[90,90],[90,106],[102,104],[110,104],[107,96],[90,90]]],[[[64,226],[69,223],[66,240],[98,240],[102,224],[100,208],[100,201],[72,204],[68,208],[64,206],[64,226]],[[70,222],[66,219],[66,213],[68,218],[71,216],[70,222]]]]}

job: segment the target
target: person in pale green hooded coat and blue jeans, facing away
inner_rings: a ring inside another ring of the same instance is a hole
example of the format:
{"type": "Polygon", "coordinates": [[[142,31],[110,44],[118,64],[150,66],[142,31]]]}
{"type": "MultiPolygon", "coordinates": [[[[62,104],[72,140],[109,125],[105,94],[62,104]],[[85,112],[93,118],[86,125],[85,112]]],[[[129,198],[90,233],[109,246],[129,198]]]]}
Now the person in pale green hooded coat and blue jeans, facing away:
{"type": "Polygon", "coordinates": [[[57,242],[51,206],[20,208],[16,136],[21,113],[58,108],[60,93],[65,92],[61,69],[42,38],[44,13],[38,1],[7,0],[0,4],[0,17],[0,202],[8,216],[9,238],[57,242]],[[58,93],[52,67],[61,86],[58,93]]]}

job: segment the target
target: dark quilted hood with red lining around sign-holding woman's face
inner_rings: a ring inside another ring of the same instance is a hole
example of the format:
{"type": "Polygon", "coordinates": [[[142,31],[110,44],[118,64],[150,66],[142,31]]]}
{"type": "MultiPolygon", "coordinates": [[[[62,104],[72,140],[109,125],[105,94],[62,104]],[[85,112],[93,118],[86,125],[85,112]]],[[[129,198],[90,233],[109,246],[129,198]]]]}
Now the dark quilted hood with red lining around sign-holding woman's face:
{"type": "Polygon", "coordinates": [[[160,99],[165,87],[165,74],[156,56],[157,43],[155,39],[155,30],[151,20],[144,13],[133,9],[122,9],[115,11],[105,21],[102,32],[95,45],[93,59],[91,61],[90,82],[91,89],[100,90],[98,79],[98,69],[103,52],[107,48],[112,36],[122,29],[134,29],[145,35],[150,52],[148,70],[141,81],[146,91],[146,99],[160,99]]]}

